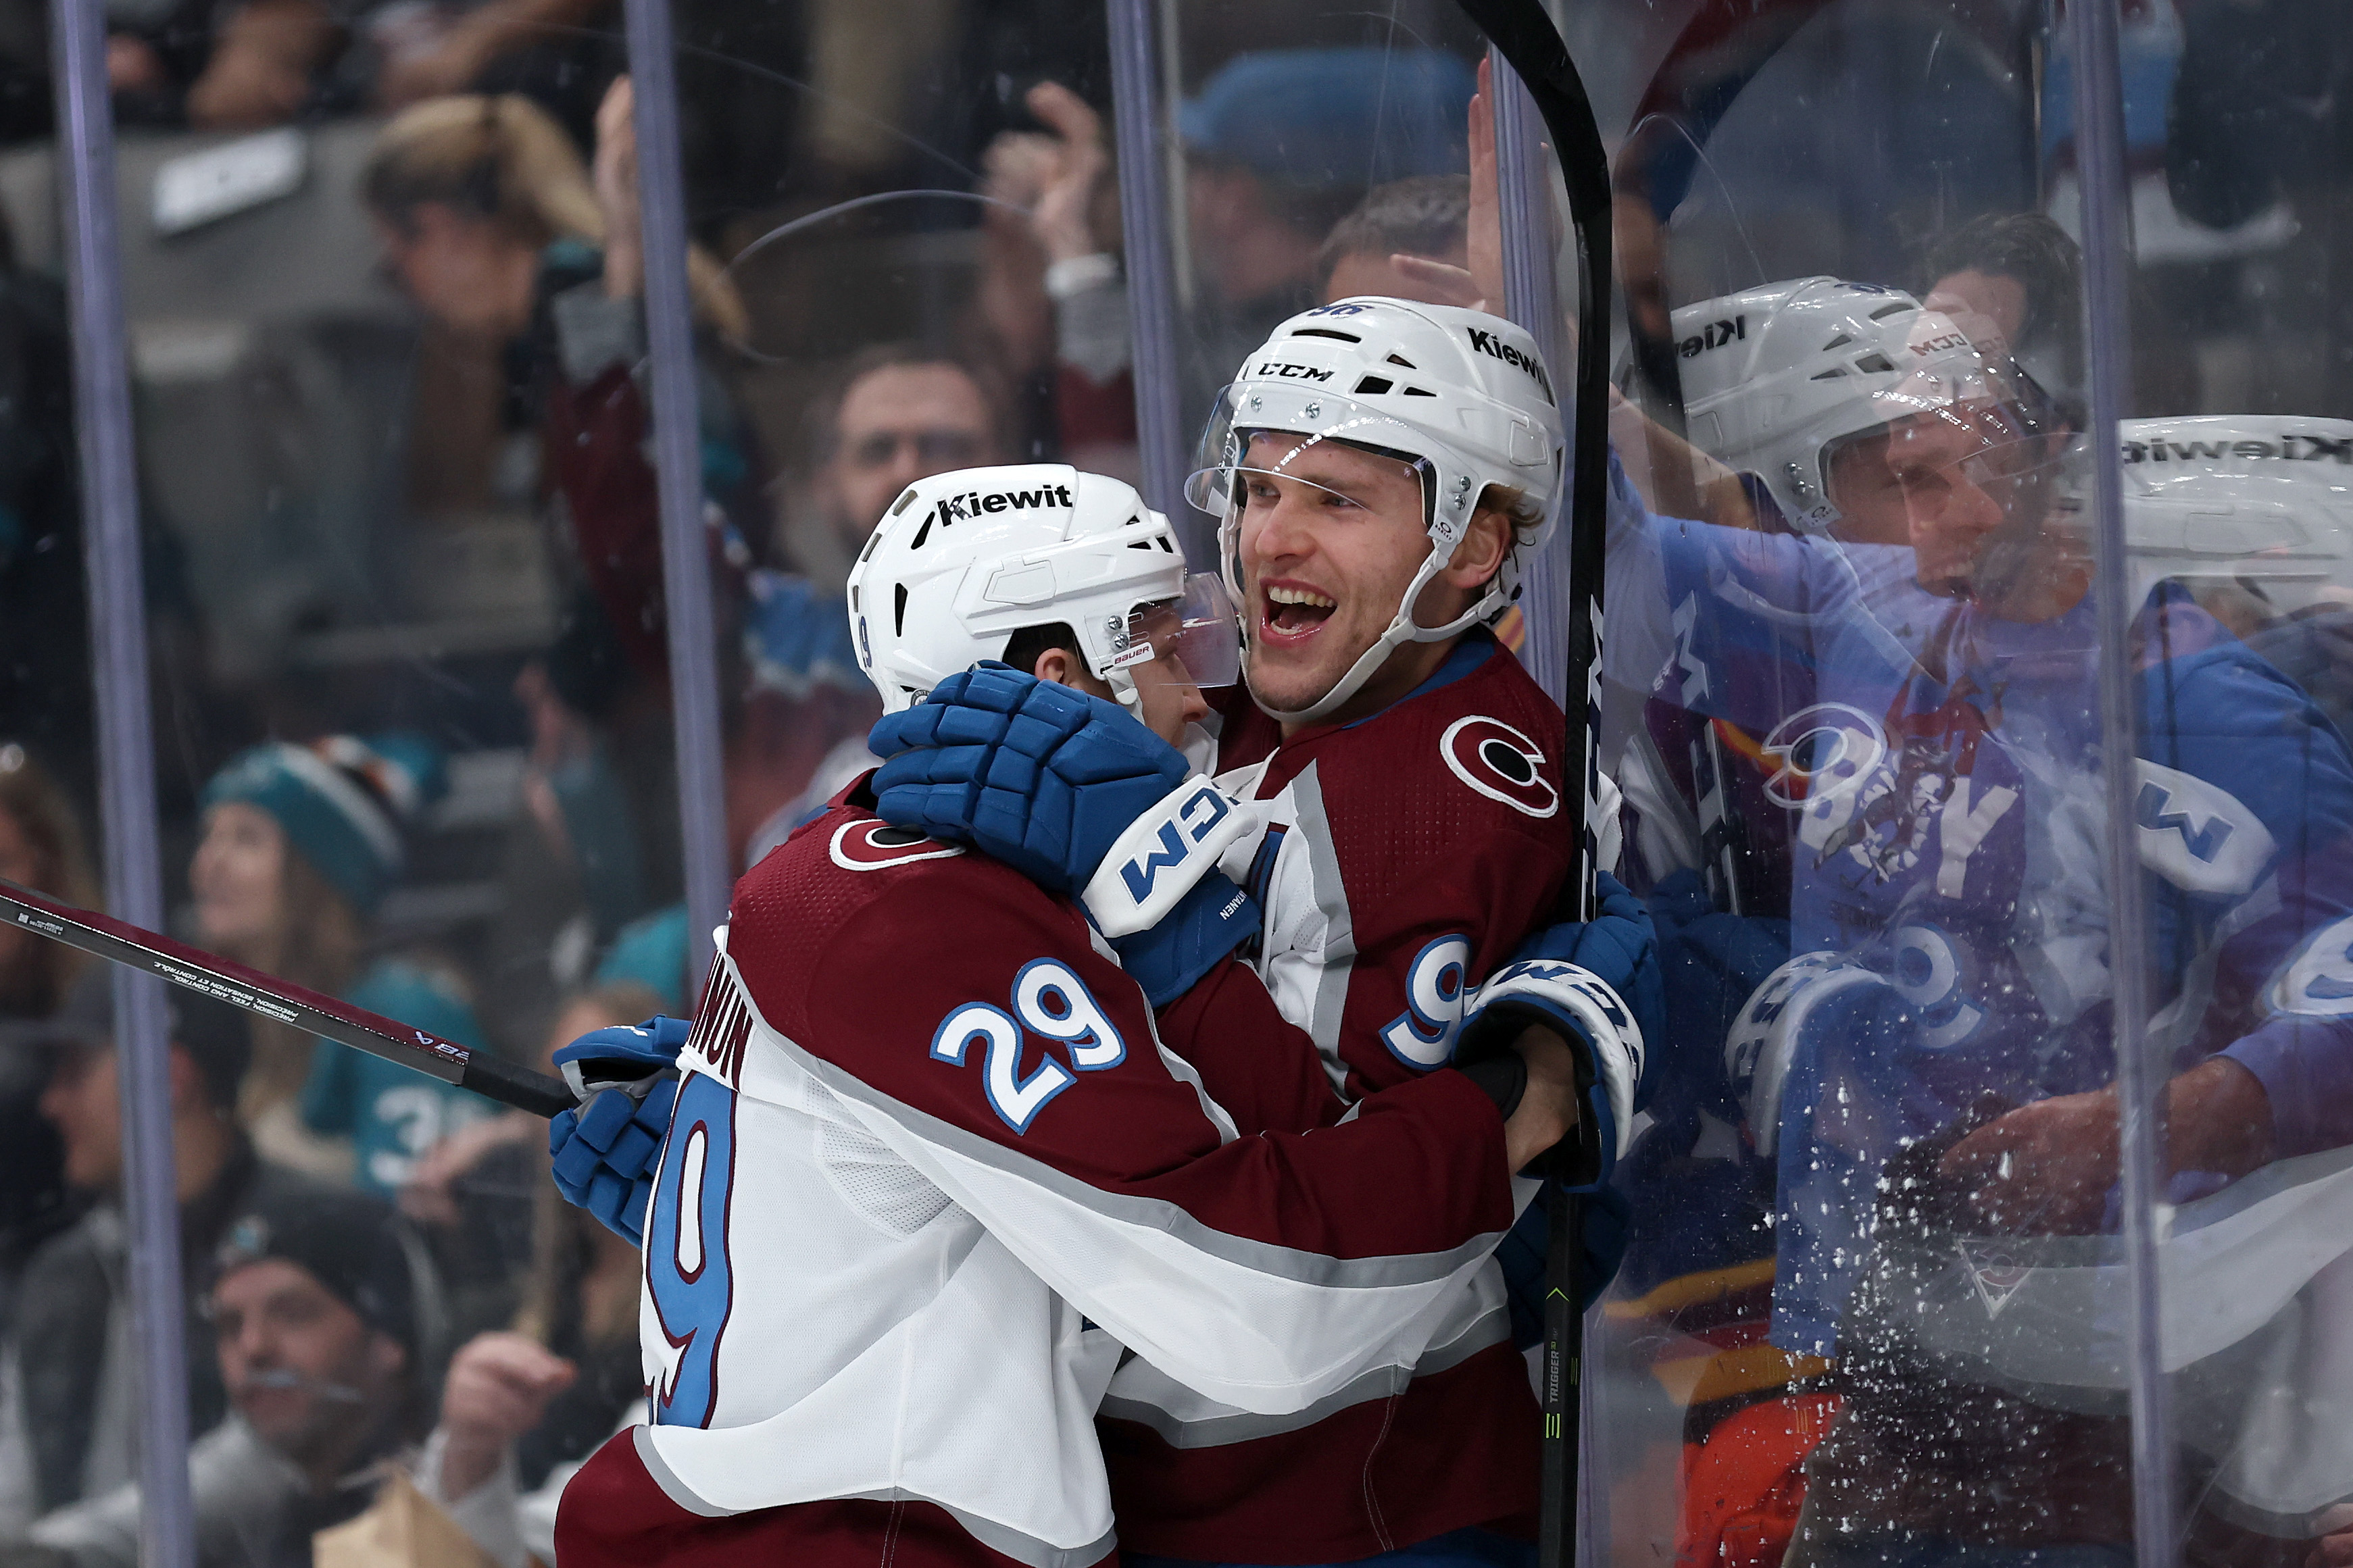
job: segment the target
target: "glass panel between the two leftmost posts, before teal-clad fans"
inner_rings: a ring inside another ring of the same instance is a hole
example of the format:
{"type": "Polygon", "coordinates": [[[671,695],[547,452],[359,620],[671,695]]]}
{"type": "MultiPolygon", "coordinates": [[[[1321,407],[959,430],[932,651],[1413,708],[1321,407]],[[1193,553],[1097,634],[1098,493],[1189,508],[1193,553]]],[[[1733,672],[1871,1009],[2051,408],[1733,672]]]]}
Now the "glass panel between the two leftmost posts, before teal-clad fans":
{"type": "MultiPolygon", "coordinates": [[[[649,517],[652,477],[619,416],[562,423],[558,317],[600,280],[626,193],[593,169],[616,28],[605,5],[108,12],[172,933],[534,1065],[678,886],[640,614],[659,559],[612,559],[581,503],[649,517]]],[[[7,167],[19,261],[54,275],[49,148],[7,167]]],[[[28,602],[78,618],[75,592],[28,602]]],[[[424,1441],[485,1333],[536,1333],[511,1352],[536,1368],[527,1429],[558,1354],[602,1378],[574,1288],[593,1232],[534,1222],[541,1121],[186,997],[174,1016],[207,1542],[299,1556],[398,1507],[339,1479],[424,1441]]],[[[129,1561],[120,1222],[82,1248],[73,1349],[19,1321],[19,1354],[45,1359],[21,1389],[47,1406],[12,1432],[52,1519],[35,1537],[129,1561]]],[[[600,1436],[555,1434],[529,1483],[600,1436]]],[[[471,1488],[461,1472],[419,1486],[471,1488]]]]}

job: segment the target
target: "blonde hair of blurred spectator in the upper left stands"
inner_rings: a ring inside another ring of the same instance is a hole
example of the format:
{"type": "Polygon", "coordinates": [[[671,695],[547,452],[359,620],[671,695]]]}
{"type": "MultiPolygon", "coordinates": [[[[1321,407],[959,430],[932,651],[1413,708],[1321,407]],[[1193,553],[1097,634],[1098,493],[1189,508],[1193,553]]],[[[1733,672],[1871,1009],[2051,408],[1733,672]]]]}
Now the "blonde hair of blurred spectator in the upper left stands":
{"type": "MultiPolygon", "coordinates": [[[[605,244],[605,209],[560,125],[529,99],[461,92],[393,115],[360,169],[360,200],[407,233],[428,202],[494,223],[534,249],[555,240],[605,244]]],[[[751,315],[727,270],[687,247],[694,315],[744,341],[751,315]]]]}

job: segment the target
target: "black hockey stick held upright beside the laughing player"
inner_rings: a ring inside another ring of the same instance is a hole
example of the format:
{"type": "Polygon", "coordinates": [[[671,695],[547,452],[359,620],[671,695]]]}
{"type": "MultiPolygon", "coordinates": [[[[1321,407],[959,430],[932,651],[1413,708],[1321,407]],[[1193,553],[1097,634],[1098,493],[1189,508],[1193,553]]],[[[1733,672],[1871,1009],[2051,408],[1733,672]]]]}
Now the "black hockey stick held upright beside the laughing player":
{"type": "MultiPolygon", "coordinates": [[[[1569,188],[1577,235],[1577,423],[1569,437],[1569,677],[1567,750],[1584,790],[1565,813],[1577,842],[1577,877],[1567,910],[1593,919],[1595,825],[1600,790],[1602,569],[1609,543],[1609,153],[1593,103],[1560,31],[1539,0],[1461,0],[1464,12],[1527,85],[1569,188]],[[1579,701],[1577,693],[1584,693],[1579,701]]],[[[1577,1408],[1584,1389],[1584,1314],[1577,1309],[1577,1246],[1586,1185],[1598,1159],[1588,1138],[1553,1154],[1551,1239],[1544,1265],[1544,1535],[1537,1561],[1577,1561],[1577,1408]]]]}

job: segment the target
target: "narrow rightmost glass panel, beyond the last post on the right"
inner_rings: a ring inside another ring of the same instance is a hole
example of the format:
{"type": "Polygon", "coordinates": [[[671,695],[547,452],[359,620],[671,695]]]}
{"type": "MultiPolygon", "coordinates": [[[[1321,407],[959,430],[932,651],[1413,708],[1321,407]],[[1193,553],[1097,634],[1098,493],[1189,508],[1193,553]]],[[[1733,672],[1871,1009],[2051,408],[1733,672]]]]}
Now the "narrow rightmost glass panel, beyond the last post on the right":
{"type": "MultiPolygon", "coordinates": [[[[2334,216],[2353,172],[2344,106],[2289,108],[2344,80],[2299,42],[2315,16],[2191,2],[2127,9],[2120,38],[2132,378],[2118,461],[2139,665],[2127,832],[2153,1009],[2139,1053],[2162,1128],[2158,1354],[2191,1561],[2327,1561],[2353,1500],[2339,1420],[2353,1265],[2332,1208],[2353,1145],[2339,1088],[2353,1051],[2339,651],[2353,317],[2334,216]]],[[[2073,71],[2071,54],[2054,61],[2054,78],[2073,71]]],[[[2052,1107],[2045,1135],[2092,1126],[2094,1107],[2052,1107]]],[[[2097,1185],[2094,1159],[2073,1164],[2097,1185]]],[[[2118,1300],[2113,1269],[2089,1260],[2021,1262],[2038,1265],[2021,1307],[2054,1288],[2118,1300]]]]}

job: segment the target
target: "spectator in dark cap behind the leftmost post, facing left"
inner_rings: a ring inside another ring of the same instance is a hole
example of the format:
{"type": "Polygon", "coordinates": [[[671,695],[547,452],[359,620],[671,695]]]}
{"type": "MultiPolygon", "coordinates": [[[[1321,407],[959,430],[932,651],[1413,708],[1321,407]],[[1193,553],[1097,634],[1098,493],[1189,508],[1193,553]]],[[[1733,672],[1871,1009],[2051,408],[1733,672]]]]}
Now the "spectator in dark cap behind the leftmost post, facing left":
{"type": "MultiPolygon", "coordinates": [[[[35,1025],[28,1046],[49,1063],[40,1112],[66,1150],[66,1180],[92,1199],[68,1229],[26,1262],[24,1295],[0,1373],[0,1530],[92,1497],[136,1474],[129,1241],[122,1220],[122,1124],[111,976],[89,969],[66,1006],[35,1025]]],[[[235,1121],[245,1077],[245,1016],[202,997],[176,997],[169,1044],[172,1164],[181,1239],[200,1265],[242,1206],[301,1187],[264,1164],[235,1121]]],[[[191,1345],[205,1342],[191,1293],[191,1345]]],[[[221,1420],[226,1396],[209,1356],[188,1363],[198,1432],[221,1420]]]]}

